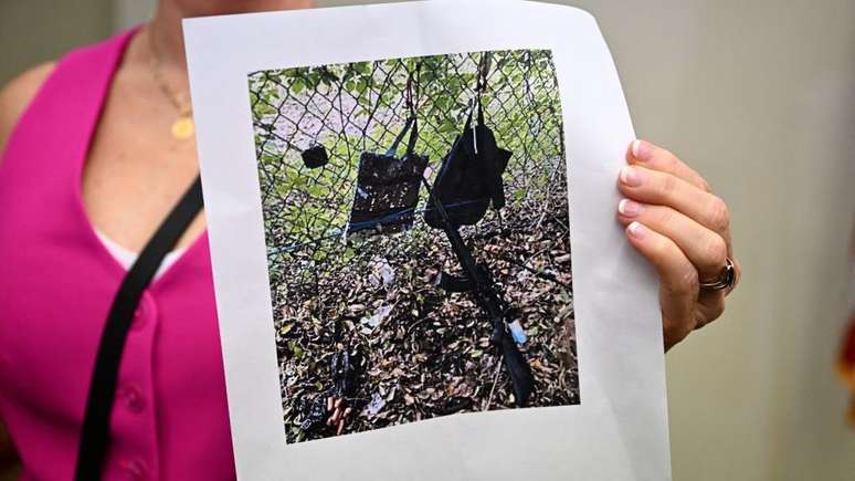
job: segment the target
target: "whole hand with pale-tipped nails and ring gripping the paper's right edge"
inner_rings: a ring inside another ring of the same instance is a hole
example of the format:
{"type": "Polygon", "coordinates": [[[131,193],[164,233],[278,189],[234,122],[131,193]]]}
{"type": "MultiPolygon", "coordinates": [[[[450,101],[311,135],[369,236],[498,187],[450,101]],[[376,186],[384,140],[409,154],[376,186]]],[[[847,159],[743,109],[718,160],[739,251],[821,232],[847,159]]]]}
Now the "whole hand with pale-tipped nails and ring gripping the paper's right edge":
{"type": "Polygon", "coordinates": [[[619,203],[619,219],[630,242],[659,274],[665,348],[718,318],[725,296],[739,280],[741,268],[730,243],[727,205],[709,184],[674,154],[644,140],[626,153],[630,167],[621,170],[619,187],[627,199],[619,203]],[[631,200],[632,199],[632,200],[631,200]],[[701,285],[727,275],[720,289],[701,285]]]}

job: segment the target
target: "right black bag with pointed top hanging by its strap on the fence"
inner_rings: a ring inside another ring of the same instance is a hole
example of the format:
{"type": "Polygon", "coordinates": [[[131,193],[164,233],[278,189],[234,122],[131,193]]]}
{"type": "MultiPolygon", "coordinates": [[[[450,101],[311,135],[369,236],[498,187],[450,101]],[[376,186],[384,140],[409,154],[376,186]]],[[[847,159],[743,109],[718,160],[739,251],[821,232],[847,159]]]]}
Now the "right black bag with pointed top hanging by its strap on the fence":
{"type": "MultiPolygon", "coordinates": [[[[478,223],[487,213],[490,202],[496,210],[505,207],[505,186],[502,175],[513,154],[499,148],[493,130],[484,125],[481,96],[486,88],[486,77],[487,66],[483,61],[476,97],[469,109],[466,126],[443,159],[440,174],[433,184],[433,194],[445,206],[448,220],[454,227],[478,223]],[[473,127],[472,117],[475,109],[478,116],[477,124],[473,127]]],[[[443,228],[443,221],[435,209],[426,209],[424,220],[434,229],[443,228]]]]}

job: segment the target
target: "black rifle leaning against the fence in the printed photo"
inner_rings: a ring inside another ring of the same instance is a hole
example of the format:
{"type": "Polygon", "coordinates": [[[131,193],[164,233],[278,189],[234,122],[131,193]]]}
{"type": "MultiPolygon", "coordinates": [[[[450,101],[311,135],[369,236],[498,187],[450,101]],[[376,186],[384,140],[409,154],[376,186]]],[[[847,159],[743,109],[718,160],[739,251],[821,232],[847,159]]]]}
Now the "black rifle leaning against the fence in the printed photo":
{"type": "Polygon", "coordinates": [[[440,215],[442,229],[445,231],[448,241],[452,244],[452,250],[457,257],[457,260],[463,266],[463,272],[466,279],[461,281],[452,280],[450,283],[455,284],[454,291],[457,292],[471,292],[476,300],[476,303],[487,313],[489,316],[490,325],[493,326],[493,333],[490,335],[490,342],[499,349],[502,357],[505,362],[505,368],[510,376],[510,380],[514,386],[514,399],[517,407],[525,407],[528,404],[528,398],[535,390],[535,379],[531,376],[531,367],[528,360],[519,352],[517,343],[514,341],[513,335],[508,330],[510,324],[507,310],[503,309],[504,302],[499,297],[496,289],[490,279],[489,270],[486,265],[481,265],[475,262],[472,252],[466,247],[463,238],[461,237],[457,228],[454,227],[448,213],[445,210],[442,201],[434,196],[433,188],[431,188],[428,179],[422,177],[422,182],[428,189],[430,202],[433,208],[440,215]]]}

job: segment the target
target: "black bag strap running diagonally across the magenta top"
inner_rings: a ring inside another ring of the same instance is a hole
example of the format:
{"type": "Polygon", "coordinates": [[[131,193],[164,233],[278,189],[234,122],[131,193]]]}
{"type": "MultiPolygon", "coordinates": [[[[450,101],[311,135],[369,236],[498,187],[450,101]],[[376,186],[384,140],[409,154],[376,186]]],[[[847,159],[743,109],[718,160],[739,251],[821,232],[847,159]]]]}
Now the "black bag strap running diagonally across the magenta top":
{"type": "Polygon", "coordinates": [[[101,336],[86,400],[74,475],[77,481],[101,479],[102,467],[109,447],[109,418],[116,397],[119,362],[134,313],[142,292],[155,278],[163,258],[175,248],[201,210],[202,184],[197,177],[142,249],[113,300],[113,306],[101,336]]]}

